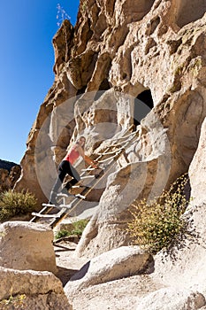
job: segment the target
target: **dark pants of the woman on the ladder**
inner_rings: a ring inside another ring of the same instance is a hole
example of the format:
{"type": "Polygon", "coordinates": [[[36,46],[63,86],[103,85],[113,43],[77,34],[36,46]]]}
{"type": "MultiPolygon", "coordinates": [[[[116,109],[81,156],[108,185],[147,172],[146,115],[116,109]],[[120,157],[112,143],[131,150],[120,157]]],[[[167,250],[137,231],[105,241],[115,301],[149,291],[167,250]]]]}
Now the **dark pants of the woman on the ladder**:
{"type": "Polygon", "coordinates": [[[55,182],[50,192],[50,202],[55,200],[57,192],[65,180],[66,174],[72,176],[72,180],[65,184],[66,190],[69,190],[72,187],[72,185],[75,185],[77,182],[80,182],[80,174],[78,174],[77,170],[74,167],[72,167],[72,164],[70,164],[69,161],[63,160],[58,167],[57,181],[55,182]]]}

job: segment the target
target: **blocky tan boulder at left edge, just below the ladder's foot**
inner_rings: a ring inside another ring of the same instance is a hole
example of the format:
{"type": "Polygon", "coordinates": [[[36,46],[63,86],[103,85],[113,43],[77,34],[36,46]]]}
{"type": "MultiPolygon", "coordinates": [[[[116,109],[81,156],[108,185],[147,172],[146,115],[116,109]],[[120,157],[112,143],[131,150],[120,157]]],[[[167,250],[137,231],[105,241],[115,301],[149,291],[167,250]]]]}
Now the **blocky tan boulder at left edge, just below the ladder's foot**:
{"type": "Polygon", "coordinates": [[[53,231],[42,224],[6,221],[0,225],[0,266],[57,273],[53,231]]]}

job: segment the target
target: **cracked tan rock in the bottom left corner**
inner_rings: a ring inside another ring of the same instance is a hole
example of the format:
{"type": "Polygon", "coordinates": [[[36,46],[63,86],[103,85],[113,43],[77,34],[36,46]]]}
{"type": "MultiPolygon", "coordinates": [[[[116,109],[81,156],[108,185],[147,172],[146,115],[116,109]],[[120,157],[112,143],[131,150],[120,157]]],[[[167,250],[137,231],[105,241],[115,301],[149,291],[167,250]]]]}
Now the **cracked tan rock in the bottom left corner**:
{"type": "Polygon", "coordinates": [[[12,297],[14,303],[19,297],[19,304],[27,309],[72,310],[62,283],[50,272],[0,267],[0,278],[2,305],[4,299],[12,297]]]}

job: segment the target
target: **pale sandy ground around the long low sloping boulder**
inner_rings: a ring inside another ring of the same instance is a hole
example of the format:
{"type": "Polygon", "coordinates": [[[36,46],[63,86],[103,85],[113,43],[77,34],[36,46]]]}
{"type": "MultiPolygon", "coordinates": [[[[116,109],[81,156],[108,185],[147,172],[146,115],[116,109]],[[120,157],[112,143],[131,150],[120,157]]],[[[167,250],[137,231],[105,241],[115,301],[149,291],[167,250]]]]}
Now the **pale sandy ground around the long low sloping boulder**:
{"type": "MultiPolygon", "coordinates": [[[[74,255],[76,244],[63,241],[55,246],[58,277],[63,285],[88,260],[74,255]]],[[[149,275],[134,275],[127,278],[90,286],[68,299],[73,310],[126,310],[135,309],[138,297],[160,289],[149,275]]]]}

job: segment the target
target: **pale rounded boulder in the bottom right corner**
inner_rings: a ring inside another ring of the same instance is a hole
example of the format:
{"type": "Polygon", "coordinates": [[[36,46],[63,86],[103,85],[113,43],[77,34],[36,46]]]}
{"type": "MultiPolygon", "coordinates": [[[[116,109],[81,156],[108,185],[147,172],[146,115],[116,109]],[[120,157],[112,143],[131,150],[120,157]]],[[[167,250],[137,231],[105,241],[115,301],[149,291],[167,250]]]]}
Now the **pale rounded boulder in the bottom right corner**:
{"type": "Polygon", "coordinates": [[[140,298],[135,310],[188,310],[200,309],[205,306],[204,296],[198,291],[164,288],[140,298]]]}

